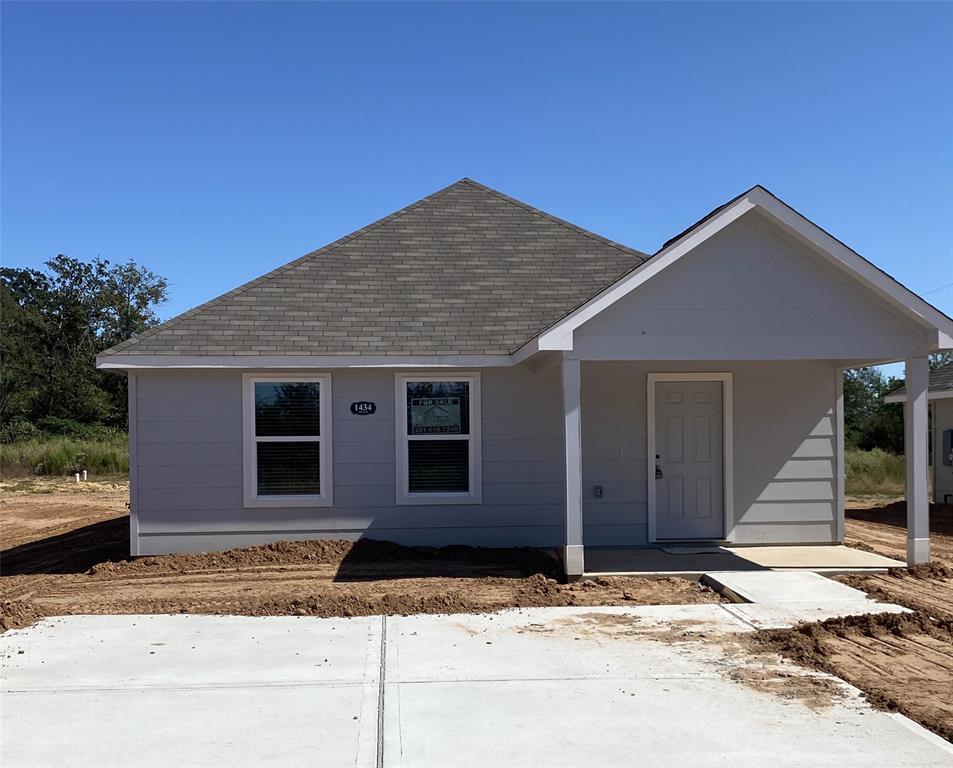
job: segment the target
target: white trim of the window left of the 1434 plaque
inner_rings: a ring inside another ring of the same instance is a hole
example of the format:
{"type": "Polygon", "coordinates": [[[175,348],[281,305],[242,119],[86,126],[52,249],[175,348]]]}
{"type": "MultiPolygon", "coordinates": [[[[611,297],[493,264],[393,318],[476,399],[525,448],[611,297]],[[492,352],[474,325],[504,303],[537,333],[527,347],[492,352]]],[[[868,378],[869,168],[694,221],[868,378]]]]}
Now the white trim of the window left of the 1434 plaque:
{"type": "Polygon", "coordinates": [[[332,467],[334,466],[331,457],[331,412],[333,407],[331,397],[331,376],[330,374],[320,375],[262,375],[257,373],[242,374],[242,475],[243,475],[243,493],[246,507],[329,507],[334,503],[333,489],[334,480],[332,477],[332,467]],[[293,437],[268,437],[257,438],[255,436],[255,384],[257,382],[313,382],[320,386],[320,435],[309,437],[306,435],[293,437]],[[320,494],[299,494],[282,496],[259,496],[258,495],[258,452],[255,445],[259,441],[267,442],[295,442],[316,440],[320,443],[319,461],[321,472],[321,493],[320,494]]]}

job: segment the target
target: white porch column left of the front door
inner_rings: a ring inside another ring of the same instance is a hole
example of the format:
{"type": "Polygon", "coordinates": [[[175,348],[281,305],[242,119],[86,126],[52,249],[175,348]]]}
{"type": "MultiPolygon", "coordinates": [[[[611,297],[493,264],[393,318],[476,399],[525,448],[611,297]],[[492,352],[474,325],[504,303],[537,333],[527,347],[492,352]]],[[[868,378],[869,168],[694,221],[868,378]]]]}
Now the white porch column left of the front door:
{"type": "Polygon", "coordinates": [[[583,574],[582,546],[582,370],[563,358],[563,415],[566,429],[566,545],[563,564],[570,578],[583,574]]]}

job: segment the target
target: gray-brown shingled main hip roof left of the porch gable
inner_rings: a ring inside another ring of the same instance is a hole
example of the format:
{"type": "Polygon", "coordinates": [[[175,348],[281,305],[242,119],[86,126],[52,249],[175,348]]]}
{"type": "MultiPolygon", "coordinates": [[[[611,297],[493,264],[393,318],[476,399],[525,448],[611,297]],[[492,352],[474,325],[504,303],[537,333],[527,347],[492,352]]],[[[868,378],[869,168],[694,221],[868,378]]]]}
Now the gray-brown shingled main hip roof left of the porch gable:
{"type": "Polygon", "coordinates": [[[462,179],[102,356],[509,354],[647,258],[462,179]]]}

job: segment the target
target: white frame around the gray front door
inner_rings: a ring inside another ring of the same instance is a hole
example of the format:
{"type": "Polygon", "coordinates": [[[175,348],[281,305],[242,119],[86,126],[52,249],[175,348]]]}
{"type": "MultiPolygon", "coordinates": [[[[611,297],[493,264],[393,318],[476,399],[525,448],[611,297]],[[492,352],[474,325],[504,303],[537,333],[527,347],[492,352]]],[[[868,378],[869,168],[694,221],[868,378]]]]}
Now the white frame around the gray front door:
{"type": "MultiPolygon", "coordinates": [[[[646,383],[646,435],[647,453],[645,457],[645,479],[648,485],[648,539],[650,544],[658,542],[655,525],[655,385],[660,381],[720,381],[721,382],[721,417],[722,417],[722,489],[723,506],[725,512],[725,534],[723,541],[732,541],[734,535],[734,456],[732,446],[732,373],[650,373],[646,383]]],[[[679,541],[679,539],[665,539],[665,541],[679,541]]],[[[683,539],[693,541],[693,539],[683,539]]]]}

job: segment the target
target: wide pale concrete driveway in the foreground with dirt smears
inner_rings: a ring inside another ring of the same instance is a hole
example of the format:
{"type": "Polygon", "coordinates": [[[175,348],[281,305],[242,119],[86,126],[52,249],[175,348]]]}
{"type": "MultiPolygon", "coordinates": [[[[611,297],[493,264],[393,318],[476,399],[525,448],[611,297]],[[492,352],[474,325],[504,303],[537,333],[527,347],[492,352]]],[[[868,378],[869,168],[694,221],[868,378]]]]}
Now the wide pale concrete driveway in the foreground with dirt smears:
{"type": "Polygon", "coordinates": [[[719,605],[75,616],[0,636],[4,766],[950,766],[719,605]]]}

